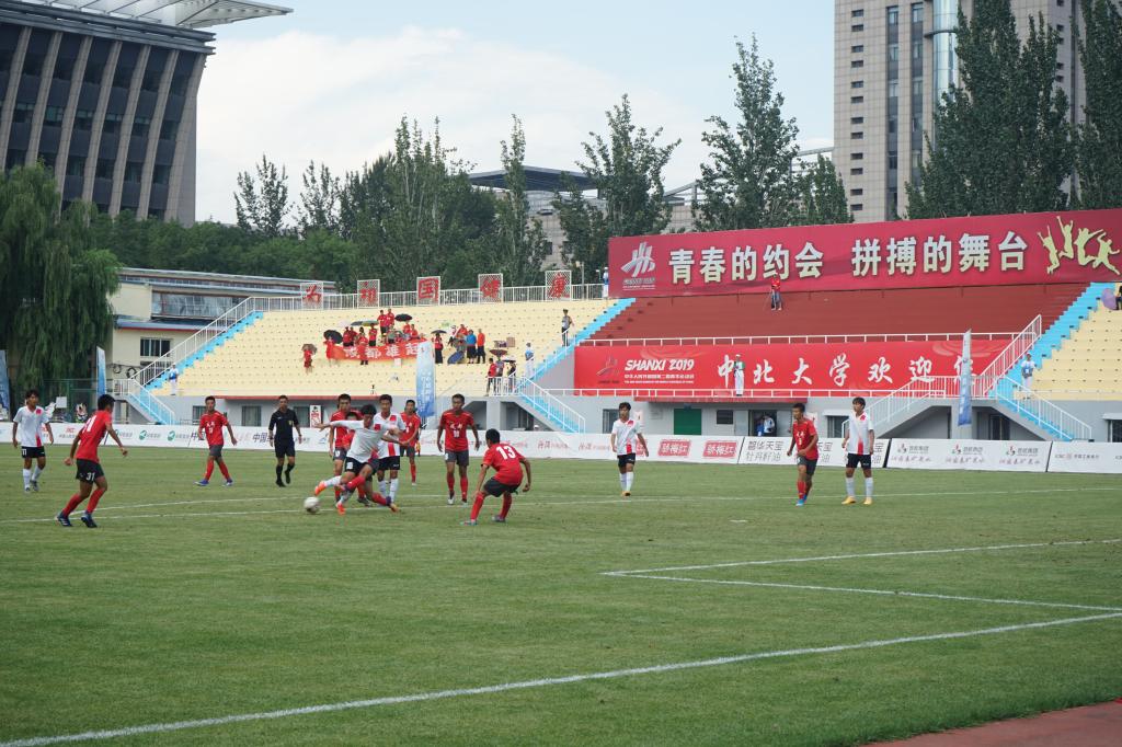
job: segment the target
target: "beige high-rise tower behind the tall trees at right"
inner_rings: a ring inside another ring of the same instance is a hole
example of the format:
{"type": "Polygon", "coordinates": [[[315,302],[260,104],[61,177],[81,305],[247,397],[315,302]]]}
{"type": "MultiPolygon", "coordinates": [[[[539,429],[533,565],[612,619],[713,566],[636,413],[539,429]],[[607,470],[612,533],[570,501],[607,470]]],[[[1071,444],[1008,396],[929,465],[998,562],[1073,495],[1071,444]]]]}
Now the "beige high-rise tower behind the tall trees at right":
{"type": "MultiPolygon", "coordinates": [[[[907,212],[940,96],[958,80],[958,9],[973,0],[835,0],[834,163],[856,221],[907,212]]],[[[1075,43],[1079,0],[1012,0],[1021,38],[1042,17],[1059,34],[1056,83],[1078,121],[1085,102],[1075,43]]]]}

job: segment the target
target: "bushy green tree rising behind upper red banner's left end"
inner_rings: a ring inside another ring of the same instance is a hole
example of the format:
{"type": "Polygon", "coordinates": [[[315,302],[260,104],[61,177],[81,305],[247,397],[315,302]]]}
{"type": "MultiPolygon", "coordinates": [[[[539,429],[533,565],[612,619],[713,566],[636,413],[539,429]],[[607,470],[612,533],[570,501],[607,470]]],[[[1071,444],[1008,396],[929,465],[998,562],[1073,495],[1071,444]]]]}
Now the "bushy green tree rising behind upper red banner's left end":
{"type": "Polygon", "coordinates": [[[589,132],[592,141],[581,144],[587,160],[577,162],[597,191],[596,204],[571,179],[553,199],[565,234],[561,255],[570,266],[604,267],[609,238],[661,233],[670,223],[662,172],[681,140],[656,145],[662,128],[647,132],[634,125],[626,94],[605,116],[607,137],[589,132]]]}

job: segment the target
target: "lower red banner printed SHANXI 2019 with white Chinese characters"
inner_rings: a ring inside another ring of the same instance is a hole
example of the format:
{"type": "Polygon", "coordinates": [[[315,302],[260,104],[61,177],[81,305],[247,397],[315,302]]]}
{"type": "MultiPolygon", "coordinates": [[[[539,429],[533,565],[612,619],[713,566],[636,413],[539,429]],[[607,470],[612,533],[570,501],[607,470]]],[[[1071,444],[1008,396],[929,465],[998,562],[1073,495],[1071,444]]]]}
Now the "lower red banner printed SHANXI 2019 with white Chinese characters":
{"type": "MultiPolygon", "coordinates": [[[[983,370],[1009,340],[974,340],[973,370],[983,370]]],[[[577,389],[736,388],[736,356],[744,390],[893,390],[913,378],[955,376],[962,340],[815,342],[743,345],[580,345],[577,389]]]]}

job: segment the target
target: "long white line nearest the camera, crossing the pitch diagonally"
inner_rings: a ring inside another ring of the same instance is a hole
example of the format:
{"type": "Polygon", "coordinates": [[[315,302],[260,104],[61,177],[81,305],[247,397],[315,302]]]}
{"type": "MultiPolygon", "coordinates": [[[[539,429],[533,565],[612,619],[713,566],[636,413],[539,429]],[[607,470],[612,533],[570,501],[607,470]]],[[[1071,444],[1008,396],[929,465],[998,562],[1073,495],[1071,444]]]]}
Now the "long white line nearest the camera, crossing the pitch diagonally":
{"type": "Polygon", "coordinates": [[[257,713],[237,713],[232,716],[219,716],[206,719],[194,719],[188,721],[171,721],[166,723],[146,723],[140,726],[123,727],[120,729],[104,729],[99,731],[83,731],[81,734],[57,735],[50,737],[31,737],[28,739],[13,739],[0,743],[0,747],[43,747],[45,745],[59,745],[76,741],[92,741],[98,739],[117,739],[120,737],[136,737],[149,734],[165,734],[168,731],[183,731],[186,729],[203,729],[209,727],[221,727],[230,723],[242,723],[246,721],[267,721],[284,719],[293,716],[307,716],[312,713],[333,713],[338,711],[349,711],[361,708],[376,708],[380,706],[398,706],[404,703],[417,703],[433,700],[447,700],[450,698],[463,698],[469,695],[490,695],[516,690],[531,690],[537,688],[550,688],[555,685],[572,684],[574,682],[590,682],[597,680],[616,680],[620,677],[633,677],[644,674],[664,674],[668,672],[680,672],[686,670],[699,670],[711,666],[726,666],[729,664],[743,664],[746,662],[765,661],[772,658],[787,658],[793,656],[811,656],[816,654],[838,654],[850,651],[863,651],[868,648],[883,648],[901,644],[926,643],[934,640],[954,640],[959,638],[975,638],[978,636],[1001,635],[1018,630],[1036,630],[1051,628],[1061,625],[1076,625],[1079,622],[1095,622],[1122,618],[1122,612],[1110,612],[1104,615],[1088,615],[1085,617],[1068,617],[1058,620],[1043,620],[1040,622],[1022,622],[1019,625],[1004,625],[994,628],[981,628],[976,630],[958,630],[953,633],[935,633],[921,636],[907,636],[900,638],[886,638],[879,640],[864,640],[854,644],[839,644],[836,646],[817,646],[810,648],[788,648],[782,651],[766,651],[754,654],[739,654],[736,656],[720,656],[717,658],[706,658],[692,662],[675,662],[671,664],[656,664],[653,666],[636,666],[625,670],[610,670],[607,672],[590,672],[586,674],[570,674],[565,676],[544,677],[541,680],[524,680],[522,682],[506,682],[503,684],[484,685],[478,688],[462,688],[457,690],[438,690],[430,692],[414,693],[412,695],[393,695],[387,698],[371,698],[369,700],[351,700],[338,703],[323,703],[319,706],[304,706],[301,708],[285,708],[275,711],[260,711],[257,713]]]}

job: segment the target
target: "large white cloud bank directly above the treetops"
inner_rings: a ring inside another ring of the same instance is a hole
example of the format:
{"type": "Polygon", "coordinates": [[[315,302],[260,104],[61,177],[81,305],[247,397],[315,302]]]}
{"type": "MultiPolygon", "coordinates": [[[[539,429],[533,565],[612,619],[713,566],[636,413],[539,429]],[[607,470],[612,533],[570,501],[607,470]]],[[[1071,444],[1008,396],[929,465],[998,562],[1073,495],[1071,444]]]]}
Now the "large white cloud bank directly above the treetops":
{"type": "MultiPolygon", "coordinates": [[[[530,164],[570,167],[604,111],[631,94],[636,122],[682,138],[668,186],[695,178],[706,112],[672,92],[628,85],[585,63],[471,38],[454,29],[406,28],[341,39],[288,33],[218,42],[199,96],[200,218],[233,219],[234,179],[261,154],[300,188],[309,160],[333,170],[389,150],[401,117],[427,130],[441,119],[444,142],[480,169],[498,167],[511,114],[524,123],[530,164]]],[[[652,80],[656,81],[656,76],[652,80]]]]}

